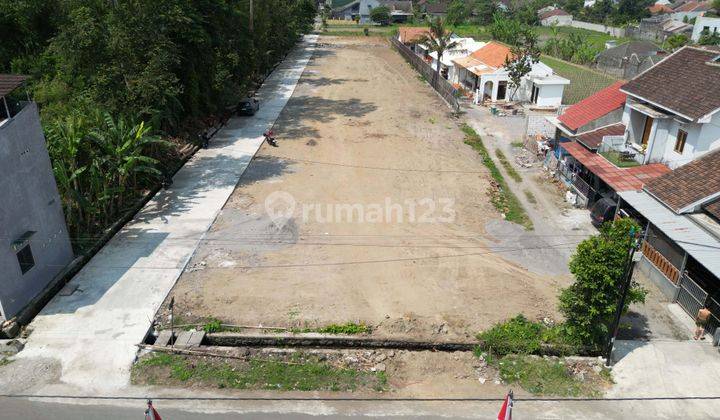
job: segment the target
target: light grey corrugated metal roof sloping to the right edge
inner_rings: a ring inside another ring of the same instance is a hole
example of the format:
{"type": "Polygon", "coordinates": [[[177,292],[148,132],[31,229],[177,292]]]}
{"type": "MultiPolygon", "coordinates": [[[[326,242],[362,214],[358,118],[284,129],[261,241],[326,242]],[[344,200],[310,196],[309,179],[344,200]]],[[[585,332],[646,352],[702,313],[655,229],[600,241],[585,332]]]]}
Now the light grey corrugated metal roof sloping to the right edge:
{"type": "Polygon", "coordinates": [[[720,241],[688,216],[675,214],[645,191],[625,191],[620,197],[716,276],[720,276],[720,241]]]}

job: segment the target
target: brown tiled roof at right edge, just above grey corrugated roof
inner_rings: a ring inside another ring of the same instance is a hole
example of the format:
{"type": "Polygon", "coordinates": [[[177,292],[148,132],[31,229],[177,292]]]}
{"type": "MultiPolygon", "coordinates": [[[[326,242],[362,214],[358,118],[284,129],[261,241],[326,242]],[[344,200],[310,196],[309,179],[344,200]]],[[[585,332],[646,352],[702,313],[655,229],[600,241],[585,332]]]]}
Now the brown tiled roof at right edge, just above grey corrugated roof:
{"type": "Polygon", "coordinates": [[[648,182],[645,189],[674,212],[720,193],[720,150],[648,182]]]}

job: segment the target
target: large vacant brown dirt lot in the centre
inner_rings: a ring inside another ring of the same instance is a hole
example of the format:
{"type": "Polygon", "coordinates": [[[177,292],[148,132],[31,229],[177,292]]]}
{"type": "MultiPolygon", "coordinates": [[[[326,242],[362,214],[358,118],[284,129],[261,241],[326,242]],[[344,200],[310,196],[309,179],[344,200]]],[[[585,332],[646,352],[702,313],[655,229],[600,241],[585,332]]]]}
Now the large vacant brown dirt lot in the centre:
{"type": "Polygon", "coordinates": [[[501,217],[459,124],[385,41],[323,38],[275,127],[280,146],[260,150],[171,292],[176,311],[423,339],[557,317],[565,280],[490,249],[484,226],[501,217]],[[290,217],[274,223],[268,197],[290,217]]]}

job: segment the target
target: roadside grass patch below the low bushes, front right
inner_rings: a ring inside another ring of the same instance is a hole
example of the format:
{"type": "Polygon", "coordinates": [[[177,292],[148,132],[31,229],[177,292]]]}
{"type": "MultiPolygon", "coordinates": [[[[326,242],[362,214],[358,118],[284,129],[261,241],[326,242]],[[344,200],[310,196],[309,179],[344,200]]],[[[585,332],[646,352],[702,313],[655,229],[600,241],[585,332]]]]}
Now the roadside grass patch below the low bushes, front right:
{"type": "Polygon", "coordinates": [[[596,381],[574,377],[561,360],[509,355],[496,366],[503,382],[516,383],[533,395],[597,397],[601,394],[596,381]]]}

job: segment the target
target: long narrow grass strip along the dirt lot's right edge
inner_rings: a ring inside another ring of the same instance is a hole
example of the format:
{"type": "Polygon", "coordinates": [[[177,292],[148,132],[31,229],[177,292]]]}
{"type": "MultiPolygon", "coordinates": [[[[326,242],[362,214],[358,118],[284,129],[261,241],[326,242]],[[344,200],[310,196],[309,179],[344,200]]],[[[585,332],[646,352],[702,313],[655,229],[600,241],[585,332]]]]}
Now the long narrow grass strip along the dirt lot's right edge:
{"type": "Polygon", "coordinates": [[[463,124],[462,131],[465,133],[465,144],[470,145],[480,154],[483,164],[490,170],[490,176],[497,183],[497,188],[492,187],[490,190],[490,201],[493,206],[499,212],[505,214],[506,220],[531,230],[533,226],[530,217],[528,217],[515,194],[510,191],[505,178],[503,178],[502,173],[495,166],[495,162],[493,162],[490,153],[485,148],[482,138],[467,124],[463,124]]]}

